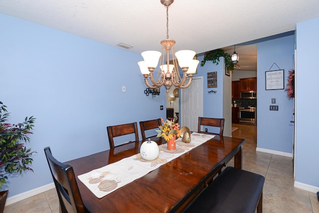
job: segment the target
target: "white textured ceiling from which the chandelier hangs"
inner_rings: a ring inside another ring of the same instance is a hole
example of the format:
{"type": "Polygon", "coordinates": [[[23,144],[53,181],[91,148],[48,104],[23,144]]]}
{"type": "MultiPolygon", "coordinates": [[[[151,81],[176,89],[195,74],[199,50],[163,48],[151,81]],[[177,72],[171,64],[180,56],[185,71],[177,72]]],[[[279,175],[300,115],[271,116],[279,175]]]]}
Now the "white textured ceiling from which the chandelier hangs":
{"type": "MultiPolygon", "coordinates": [[[[175,0],[168,12],[175,50],[202,53],[295,30],[319,16],[319,0],[175,0]]],[[[166,38],[160,0],[0,0],[0,13],[139,53],[160,50],[166,38]]]]}

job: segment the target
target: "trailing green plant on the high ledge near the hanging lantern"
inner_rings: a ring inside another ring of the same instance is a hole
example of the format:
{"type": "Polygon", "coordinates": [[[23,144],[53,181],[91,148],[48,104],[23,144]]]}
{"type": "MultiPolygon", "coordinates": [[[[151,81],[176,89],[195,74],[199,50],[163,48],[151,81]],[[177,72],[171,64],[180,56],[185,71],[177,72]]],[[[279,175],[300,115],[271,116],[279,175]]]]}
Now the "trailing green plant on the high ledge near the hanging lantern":
{"type": "Polygon", "coordinates": [[[212,61],[215,64],[218,64],[219,62],[219,57],[224,57],[225,59],[225,65],[228,70],[233,70],[234,69],[234,63],[231,60],[231,55],[228,53],[225,53],[224,50],[222,49],[215,49],[211,50],[209,52],[206,52],[204,55],[204,59],[200,62],[200,66],[204,66],[206,61],[212,61]]]}

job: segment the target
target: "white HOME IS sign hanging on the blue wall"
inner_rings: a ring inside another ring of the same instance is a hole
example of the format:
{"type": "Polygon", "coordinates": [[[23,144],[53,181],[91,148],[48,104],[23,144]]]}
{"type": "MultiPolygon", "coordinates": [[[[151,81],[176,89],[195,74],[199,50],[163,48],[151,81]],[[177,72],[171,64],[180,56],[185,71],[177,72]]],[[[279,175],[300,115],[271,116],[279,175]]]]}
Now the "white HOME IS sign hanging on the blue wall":
{"type": "Polygon", "coordinates": [[[266,90],[284,89],[284,70],[274,70],[265,72],[266,90]]]}

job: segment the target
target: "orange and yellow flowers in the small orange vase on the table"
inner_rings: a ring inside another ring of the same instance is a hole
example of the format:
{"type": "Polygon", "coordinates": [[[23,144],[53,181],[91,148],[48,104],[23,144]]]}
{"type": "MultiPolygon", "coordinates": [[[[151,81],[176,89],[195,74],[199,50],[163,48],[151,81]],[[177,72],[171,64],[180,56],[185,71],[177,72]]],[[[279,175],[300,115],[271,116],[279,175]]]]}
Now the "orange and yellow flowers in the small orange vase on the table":
{"type": "Polygon", "coordinates": [[[165,139],[165,141],[168,141],[171,139],[174,135],[178,138],[180,137],[180,129],[179,129],[179,124],[174,123],[174,120],[164,120],[160,118],[162,125],[159,126],[159,130],[156,130],[158,132],[157,137],[162,137],[165,139]]]}

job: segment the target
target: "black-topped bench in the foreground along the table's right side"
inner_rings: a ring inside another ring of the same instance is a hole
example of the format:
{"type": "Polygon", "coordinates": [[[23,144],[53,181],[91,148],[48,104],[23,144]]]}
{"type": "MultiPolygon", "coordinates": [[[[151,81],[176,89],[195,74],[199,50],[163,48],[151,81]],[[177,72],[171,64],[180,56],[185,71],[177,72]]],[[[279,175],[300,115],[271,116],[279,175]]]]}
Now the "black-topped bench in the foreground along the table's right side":
{"type": "Polygon", "coordinates": [[[262,213],[265,177],[227,167],[184,213],[262,213]]]}

